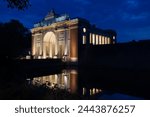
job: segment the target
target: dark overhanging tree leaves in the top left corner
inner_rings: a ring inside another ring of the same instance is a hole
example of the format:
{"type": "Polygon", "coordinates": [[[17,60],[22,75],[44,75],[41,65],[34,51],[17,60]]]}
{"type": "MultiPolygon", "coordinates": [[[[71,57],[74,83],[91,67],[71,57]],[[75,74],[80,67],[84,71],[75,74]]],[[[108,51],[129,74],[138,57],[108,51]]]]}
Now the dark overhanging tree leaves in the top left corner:
{"type": "Polygon", "coordinates": [[[9,8],[23,10],[30,6],[29,0],[4,0],[7,1],[9,8]]]}

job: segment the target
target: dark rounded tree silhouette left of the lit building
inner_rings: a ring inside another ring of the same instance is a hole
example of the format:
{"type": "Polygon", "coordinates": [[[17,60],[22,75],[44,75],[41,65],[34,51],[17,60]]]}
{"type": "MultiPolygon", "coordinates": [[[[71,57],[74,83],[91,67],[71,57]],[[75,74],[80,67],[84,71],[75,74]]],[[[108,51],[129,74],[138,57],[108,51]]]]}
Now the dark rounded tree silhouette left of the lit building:
{"type": "Polygon", "coordinates": [[[0,23],[1,59],[19,57],[30,48],[30,31],[17,20],[0,23]]]}

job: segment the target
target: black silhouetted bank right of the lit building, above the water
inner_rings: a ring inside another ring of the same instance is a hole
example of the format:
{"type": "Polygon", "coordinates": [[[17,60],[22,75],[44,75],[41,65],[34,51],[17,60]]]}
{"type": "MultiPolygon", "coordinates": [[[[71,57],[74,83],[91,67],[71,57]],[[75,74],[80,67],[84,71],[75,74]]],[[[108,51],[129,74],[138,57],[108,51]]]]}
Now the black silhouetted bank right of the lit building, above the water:
{"type": "Polygon", "coordinates": [[[150,70],[150,40],[82,46],[79,57],[88,67],[150,70]]]}

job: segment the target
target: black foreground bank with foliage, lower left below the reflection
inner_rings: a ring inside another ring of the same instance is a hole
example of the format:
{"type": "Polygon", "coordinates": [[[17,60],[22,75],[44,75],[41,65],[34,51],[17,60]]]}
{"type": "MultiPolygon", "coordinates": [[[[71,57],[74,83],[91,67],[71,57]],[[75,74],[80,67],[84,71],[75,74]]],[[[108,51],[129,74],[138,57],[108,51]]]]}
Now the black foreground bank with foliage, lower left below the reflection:
{"type": "MultiPolygon", "coordinates": [[[[0,83],[1,84],[1,83],[0,83]]],[[[0,86],[0,99],[15,100],[73,100],[82,99],[65,89],[50,89],[43,86],[25,85],[18,82],[3,82],[0,86]]]]}

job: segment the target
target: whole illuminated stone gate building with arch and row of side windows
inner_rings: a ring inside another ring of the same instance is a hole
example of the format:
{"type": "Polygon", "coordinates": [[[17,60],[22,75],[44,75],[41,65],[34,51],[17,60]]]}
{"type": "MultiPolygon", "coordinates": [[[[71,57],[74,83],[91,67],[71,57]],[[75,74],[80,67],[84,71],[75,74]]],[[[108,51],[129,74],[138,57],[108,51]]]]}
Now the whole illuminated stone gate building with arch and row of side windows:
{"type": "Polygon", "coordinates": [[[116,43],[116,33],[101,30],[81,18],[70,19],[53,10],[32,31],[32,56],[35,59],[60,58],[77,62],[80,46],[116,43]]]}

